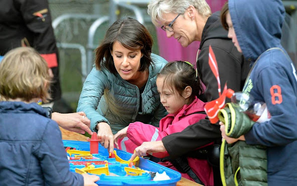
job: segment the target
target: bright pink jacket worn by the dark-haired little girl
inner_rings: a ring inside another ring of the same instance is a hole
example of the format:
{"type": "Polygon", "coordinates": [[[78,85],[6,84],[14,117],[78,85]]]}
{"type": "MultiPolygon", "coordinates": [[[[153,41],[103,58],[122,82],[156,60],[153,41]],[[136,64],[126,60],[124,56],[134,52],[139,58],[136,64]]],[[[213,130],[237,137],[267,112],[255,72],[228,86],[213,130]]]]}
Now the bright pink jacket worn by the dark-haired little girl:
{"type": "MultiPolygon", "coordinates": [[[[205,118],[206,114],[194,113],[204,111],[205,104],[205,102],[196,97],[191,104],[184,105],[176,113],[168,114],[162,118],[159,127],[138,121],[130,123],[127,130],[127,137],[118,140],[119,148],[133,153],[134,149],[140,146],[144,141],[161,140],[166,135],[182,131],[187,126],[205,118]]],[[[160,158],[169,156],[167,151],[153,153],[152,155],[160,158]]],[[[188,157],[188,162],[192,170],[206,185],[213,185],[212,167],[208,164],[206,159],[188,157]]],[[[159,163],[175,169],[169,161],[159,163]]],[[[187,173],[182,173],[182,176],[193,180],[187,173]]]]}

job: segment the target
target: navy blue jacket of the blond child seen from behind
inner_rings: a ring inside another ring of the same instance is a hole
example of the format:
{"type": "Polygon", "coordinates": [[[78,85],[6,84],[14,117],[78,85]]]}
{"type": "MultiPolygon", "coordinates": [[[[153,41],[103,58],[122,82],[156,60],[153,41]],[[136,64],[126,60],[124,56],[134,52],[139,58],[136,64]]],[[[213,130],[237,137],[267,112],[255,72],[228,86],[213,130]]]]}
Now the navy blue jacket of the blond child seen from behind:
{"type": "Polygon", "coordinates": [[[36,103],[0,101],[0,185],[83,185],[57,123],[36,103]]]}

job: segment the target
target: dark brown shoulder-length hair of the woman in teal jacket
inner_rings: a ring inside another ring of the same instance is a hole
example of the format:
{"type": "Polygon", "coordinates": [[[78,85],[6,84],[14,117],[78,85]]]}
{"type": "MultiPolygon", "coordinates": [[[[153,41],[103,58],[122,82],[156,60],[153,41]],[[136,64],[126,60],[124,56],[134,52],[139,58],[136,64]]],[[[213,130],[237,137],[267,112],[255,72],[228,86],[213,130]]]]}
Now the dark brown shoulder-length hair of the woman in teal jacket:
{"type": "Polygon", "coordinates": [[[139,71],[149,69],[154,64],[151,58],[153,39],[149,31],[139,21],[126,17],[116,20],[107,30],[101,44],[95,49],[95,64],[97,69],[101,65],[111,73],[116,73],[113,58],[111,55],[112,46],[118,41],[125,48],[130,50],[140,49],[143,57],[140,59],[139,71]]]}

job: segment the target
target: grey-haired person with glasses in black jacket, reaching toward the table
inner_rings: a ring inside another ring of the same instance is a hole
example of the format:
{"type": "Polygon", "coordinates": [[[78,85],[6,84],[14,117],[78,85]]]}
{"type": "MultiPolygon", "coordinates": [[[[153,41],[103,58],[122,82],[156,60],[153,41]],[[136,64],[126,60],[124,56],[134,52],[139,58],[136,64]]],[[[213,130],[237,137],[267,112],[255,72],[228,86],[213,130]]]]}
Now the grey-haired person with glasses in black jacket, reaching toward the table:
{"type": "MultiPolygon", "coordinates": [[[[153,23],[161,25],[166,31],[167,37],[173,36],[182,46],[186,47],[195,40],[201,41],[197,52],[197,71],[206,85],[206,101],[219,97],[217,79],[208,64],[210,45],[216,54],[221,84],[226,82],[235,91],[243,88],[250,70],[249,63],[228,38],[228,32],[220,22],[220,12],[212,14],[205,0],[151,0],[148,13],[153,23]]],[[[170,156],[177,157],[209,142],[220,141],[220,135],[219,124],[201,119],[182,132],[163,137],[162,141],[144,142],[142,149],[146,152],[167,151],[170,156]]],[[[215,179],[215,185],[220,182],[220,178],[215,179]]]]}

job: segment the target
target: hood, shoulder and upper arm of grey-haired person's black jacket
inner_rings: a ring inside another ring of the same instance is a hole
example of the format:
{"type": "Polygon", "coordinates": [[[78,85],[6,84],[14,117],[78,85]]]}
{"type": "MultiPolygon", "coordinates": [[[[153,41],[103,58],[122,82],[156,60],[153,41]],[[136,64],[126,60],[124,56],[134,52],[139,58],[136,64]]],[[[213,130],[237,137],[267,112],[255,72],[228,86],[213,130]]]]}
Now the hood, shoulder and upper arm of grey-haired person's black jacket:
{"type": "Polygon", "coordinates": [[[202,74],[201,81],[206,85],[207,101],[219,97],[217,79],[208,64],[210,45],[216,54],[221,83],[227,82],[228,88],[235,91],[242,90],[250,70],[249,63],[245,62],[243,55],[236,51],[236,47],[228,39],[227,32],[220,21],[220,12],[213,13],[208,17],[203,28],[197,60],[198,74],[202,74]]]}

